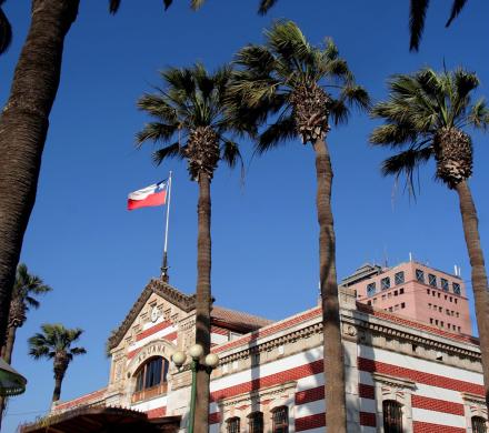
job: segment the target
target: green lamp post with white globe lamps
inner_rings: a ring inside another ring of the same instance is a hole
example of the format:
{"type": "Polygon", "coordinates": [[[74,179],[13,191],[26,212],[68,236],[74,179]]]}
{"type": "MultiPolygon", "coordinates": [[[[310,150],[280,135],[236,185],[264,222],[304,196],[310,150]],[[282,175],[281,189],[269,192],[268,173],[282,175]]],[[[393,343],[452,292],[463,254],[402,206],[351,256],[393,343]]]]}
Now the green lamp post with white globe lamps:
{"type": "MultiPolygon", "coordinates": [[[[189,355],[192,359],[190,363],[190,369],[192,371],[192,386],[190,391],[190,416],[189,416],[189,429],[188,433],[193,433],[193,424],[196,419],[196,396],[197,396],[197,372],[200,369],[206,370],[209,374],[213,369],[219,365],[219,356],[216,353],[209,353],[200,363],[200,358],[203,354],[203,348],[200,344],[193,344],[189,349],[189,355]]],[[[177,369],[181,369],[187,360],[187,354],[182,351],[177,351],[171,355],[171,361],[177,365],[177,369]]]]}

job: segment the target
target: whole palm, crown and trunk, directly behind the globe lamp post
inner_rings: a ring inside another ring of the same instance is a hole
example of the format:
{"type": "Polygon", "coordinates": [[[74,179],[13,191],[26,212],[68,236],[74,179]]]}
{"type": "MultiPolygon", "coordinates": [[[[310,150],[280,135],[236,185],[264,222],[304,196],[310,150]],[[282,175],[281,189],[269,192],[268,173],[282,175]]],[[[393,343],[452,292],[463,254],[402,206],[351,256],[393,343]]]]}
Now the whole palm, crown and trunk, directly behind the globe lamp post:
{"type": "MultiPolygon", "coordinates": [[[[140,145],[146,141],[161,142],[153,154],[160,164],[167,158],[187,159],[190,179],[199,185],[197,242],[196,343],[203,356],[210,352],[211,309],[211,200],[210,183],[220,160],[231,168],[241,161],[238,144],[229,137],[233,127],[226,118],[224,95],[231,77],[226,66],[214,73],[202,64],[192,68],[169,68],[161,72],[163,89],[147,93],[138,101],[139,109],[154,121],[138,133],[140,145]]],[[[209,374],[197,373],[197,410],[194,431],[208,431],[209,374]]]]}

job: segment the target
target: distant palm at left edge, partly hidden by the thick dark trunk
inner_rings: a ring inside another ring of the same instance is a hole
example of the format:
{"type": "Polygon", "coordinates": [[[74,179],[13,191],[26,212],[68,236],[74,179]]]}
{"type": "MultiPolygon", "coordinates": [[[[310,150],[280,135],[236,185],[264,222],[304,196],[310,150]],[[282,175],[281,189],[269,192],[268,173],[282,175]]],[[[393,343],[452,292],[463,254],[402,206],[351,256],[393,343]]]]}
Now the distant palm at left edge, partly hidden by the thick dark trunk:
{"type": "MultiPolygon", "coordinates": [[[[30,274],[24,263],[20,263],[17,266],[16,283],[9,311],[7,342],[1,348],[1,356],[7,363],[10,364],[12,362],[17,329],[24,324],[29,309],[38,309],[40,305],[34,295],[44,294],[51,290],[49,285],[43,283],[41,278],[30,274]]],[[[0,426],[4,409],[6,397],[0,396],[0,426]]]]}

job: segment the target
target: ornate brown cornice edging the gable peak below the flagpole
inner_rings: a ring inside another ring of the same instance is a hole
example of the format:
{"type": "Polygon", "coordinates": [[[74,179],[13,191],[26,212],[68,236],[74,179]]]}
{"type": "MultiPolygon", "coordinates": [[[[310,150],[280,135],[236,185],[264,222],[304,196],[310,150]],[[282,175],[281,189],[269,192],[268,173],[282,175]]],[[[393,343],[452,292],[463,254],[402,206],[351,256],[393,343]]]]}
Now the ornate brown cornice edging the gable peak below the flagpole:
{"type": "Polygon", "coordinates": [[[128,315],[121,323],[121,325],[112,332],[112,335],[107,342],[107,346],[110,350],[117,348],[117,345],[122,341],[129,329],[134,323],[138,315],[141,313],[142,309],[147,304],[148,300],[152,294],[157,294],[169,303],[178,306],[184,312],[190,312],[196,308],[196,295],[187,295],[179,290],[172,288],[164,281],[151,280],[144,290],[141,292],[139,299],[136,301],[132,309],[129,311],[128,315]]]}

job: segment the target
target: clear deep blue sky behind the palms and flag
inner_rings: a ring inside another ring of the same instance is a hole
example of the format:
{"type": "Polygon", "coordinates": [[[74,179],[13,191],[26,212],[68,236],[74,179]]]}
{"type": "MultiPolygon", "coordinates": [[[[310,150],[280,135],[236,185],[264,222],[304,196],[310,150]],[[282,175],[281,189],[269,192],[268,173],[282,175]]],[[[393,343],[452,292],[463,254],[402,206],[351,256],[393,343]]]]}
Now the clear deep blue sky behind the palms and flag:
{"type": "MultiPolygon", "coordinates": [[[[7,1],[14,41],[0,58],[0,102],[4,103],[23,43],[30,2],[7,1]]],[[[6,432],[42,415],[53,387],[52,364],[27,356],[27,339],[44,322],[86,330],[88,354],[76,359],[62,399],[108,382],[104,343],[146,283],[159,273],[162,209],[126,211],[129,192],[174,172],[170,221],[170,282],[186,293],[196,285],[197,184],[179,161],[154,168],[151,145],[134,150],[134,133],[147,118],[136,101],[167,66],[198,60],[210,69],[231,60],[262,29],[289,18],[313,43],[332,37],[357,81],[373,100],[386,95],[386,78],[423,66],[463,64],[477,71],[489,95],[487,40],[489,3],[472,0],[450,29],[449,2],[433,1],[419,53],[408,51],[408,0],[279,1],[267,17],[255,1],[209,0],[192,12],[186,1],[167,11],[160,1],[124,0],[111,17],[104,1],[82,1],[64,49],[61,84],[51,113],[38,199],[24,239],[22,261],[54,291],[41,299],[19,330],[13,365],[28,379],[26,394],[12,399],[6,432]],[[307,7],[305,6],[307,4],[307,7]]],[[[393,192],[379,164],[388,152],[367,138],[376,125],[355,113],[329,134],[335,170],[333,212],[339,278],[367,261],[393,265],[409,252],[421,262],[452,272],[469,262],[453,192],[433,182],[433,167],[420,173],[417,201],[393,192]]],[[[472,135],[476,148],[472,192],[482,245],[489,245],[488,137],[472,135]]],[[[247,159],[250,143],[242,143],[247,159]]],[[[217,303],[281,319],[311,308],[318,296],[318,226],[313,154],[299,141],[253,159],[244,184],[239,171],[219,168],[212,182],[212,291],[217,303]]],[[[487,250],[486,250],[487,251],[487,250]]],[[[487,254],[486,254],[487,255],[487,254]]]]}

